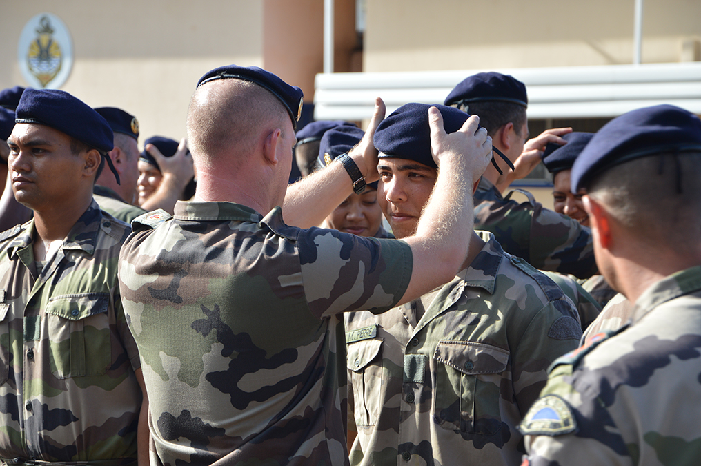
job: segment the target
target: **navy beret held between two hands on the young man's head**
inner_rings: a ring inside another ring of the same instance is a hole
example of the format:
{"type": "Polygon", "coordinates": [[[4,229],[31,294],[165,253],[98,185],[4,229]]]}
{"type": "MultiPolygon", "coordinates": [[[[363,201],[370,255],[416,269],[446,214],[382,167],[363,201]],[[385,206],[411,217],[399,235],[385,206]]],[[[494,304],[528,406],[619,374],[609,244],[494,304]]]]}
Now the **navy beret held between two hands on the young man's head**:
{"type": "Polygon", "coordinates": [[[407,159],[438,168],[431,155],[431,131],[428,124],[430,107],[440,110],[446,133],[455,133],[470,118],[462,110],[445,105],[402,105],[384,119],[375,132],[374,143],[380,151],[381,159],[407,159]]]}

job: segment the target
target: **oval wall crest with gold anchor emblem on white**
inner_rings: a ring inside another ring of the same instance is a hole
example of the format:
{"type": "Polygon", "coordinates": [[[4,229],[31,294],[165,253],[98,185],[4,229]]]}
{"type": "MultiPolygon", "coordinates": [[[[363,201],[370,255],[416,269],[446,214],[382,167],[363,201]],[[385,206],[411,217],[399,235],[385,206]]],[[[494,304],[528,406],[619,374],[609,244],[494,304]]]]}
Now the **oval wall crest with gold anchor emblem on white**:
{"type": "Polygon", "coordinates": [[[52,13],[34,16],[20,34],[17,59],[29,86],[59,88],[73,67],[73,43],[68,28],[52,13]]]}

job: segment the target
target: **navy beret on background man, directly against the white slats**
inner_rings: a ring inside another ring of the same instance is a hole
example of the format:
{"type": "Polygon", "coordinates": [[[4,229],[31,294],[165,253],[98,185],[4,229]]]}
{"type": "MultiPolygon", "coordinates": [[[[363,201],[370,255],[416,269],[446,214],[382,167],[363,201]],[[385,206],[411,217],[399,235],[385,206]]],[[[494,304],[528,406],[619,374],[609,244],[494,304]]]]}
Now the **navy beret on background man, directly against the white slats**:
{"type": "MultiPolygon", "coordinates": [[[[465,78],[450,91],[445,105],[486,101],[511,102],[528,107],[526,86],[508,74],[477,73],[465,78]]],[[[469,105],[468,105],[469,107],[469,105]]],[[[469,108],[468,108],[469,111],[469,108]]]]}

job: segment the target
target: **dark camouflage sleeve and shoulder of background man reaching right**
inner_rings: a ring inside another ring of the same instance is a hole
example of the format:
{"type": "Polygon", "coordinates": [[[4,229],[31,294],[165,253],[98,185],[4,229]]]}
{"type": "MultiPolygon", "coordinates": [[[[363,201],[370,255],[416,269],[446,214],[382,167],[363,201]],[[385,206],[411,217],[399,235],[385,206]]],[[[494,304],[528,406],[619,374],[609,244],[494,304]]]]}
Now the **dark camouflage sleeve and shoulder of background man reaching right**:
{"type": "Polygon", "coordinates": [[[572,274],[580,279],[597,272],[589,228],[566,215],[543,208],[533,195],[519,204],[482,178],[475,192],[475,229],[494,233],[504,251],[524,258],[536,269],[572,274]]]}

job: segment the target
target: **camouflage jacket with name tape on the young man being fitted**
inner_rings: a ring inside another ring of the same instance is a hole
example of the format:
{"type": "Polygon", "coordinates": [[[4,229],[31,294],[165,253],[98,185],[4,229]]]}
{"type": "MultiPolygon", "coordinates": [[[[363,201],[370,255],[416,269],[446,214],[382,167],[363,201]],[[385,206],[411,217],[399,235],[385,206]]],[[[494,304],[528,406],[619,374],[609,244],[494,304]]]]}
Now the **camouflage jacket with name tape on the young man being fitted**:
{"type": "Polygon", "coordinates": [[[494,237],[437,292],[420,320],[411,303],[346,314],[352,465],[515,465],[515,430],[578,345],[562,290],[494,237]]]}

